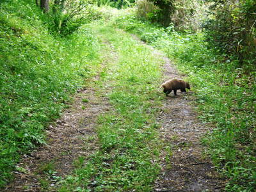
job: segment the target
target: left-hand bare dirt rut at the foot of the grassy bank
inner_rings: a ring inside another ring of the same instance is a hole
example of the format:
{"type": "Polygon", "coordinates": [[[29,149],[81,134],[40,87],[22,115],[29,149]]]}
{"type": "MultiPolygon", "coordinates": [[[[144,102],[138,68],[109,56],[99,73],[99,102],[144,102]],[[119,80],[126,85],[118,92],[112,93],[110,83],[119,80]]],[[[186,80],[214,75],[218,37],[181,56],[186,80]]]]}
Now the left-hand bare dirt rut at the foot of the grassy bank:
{"type": "Polygon", "coordinates": [[[97,150],[97,116],[109,110],[106,97],[99,97],[93,88],[98,80],[99,75],[77,91],[72,106],[47,129],[47,145],[24,155],[17,165],[20,171],[14,172],[15,180],[4,191],[51,191],[72,172],[77,157],[88,157],[97,150]]]}

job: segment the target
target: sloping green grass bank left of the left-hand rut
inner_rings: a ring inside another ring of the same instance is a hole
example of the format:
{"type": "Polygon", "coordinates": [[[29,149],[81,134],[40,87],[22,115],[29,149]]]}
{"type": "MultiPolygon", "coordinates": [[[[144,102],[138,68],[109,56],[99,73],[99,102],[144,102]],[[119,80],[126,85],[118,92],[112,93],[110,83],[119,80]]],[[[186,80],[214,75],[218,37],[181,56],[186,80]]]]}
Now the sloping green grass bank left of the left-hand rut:
{"type": "Polygon", "coordinates": [[[44,143],[44,129],[99,63],[98,43],[80,29],[52,36],[31,1],[0,8],[0,187],[20,154],[44,143]]]}

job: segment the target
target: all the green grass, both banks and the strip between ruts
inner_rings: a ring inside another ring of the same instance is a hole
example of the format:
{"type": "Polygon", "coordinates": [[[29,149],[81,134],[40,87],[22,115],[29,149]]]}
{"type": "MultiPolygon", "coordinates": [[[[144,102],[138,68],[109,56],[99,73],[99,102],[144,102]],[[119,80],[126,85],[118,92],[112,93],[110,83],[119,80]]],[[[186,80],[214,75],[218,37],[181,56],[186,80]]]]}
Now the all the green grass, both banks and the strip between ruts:
{"type": "MultiPolygon", "coordinates": [[[[127,13],[116,11],[111,20],[112,12],[107,10],[102,15],[110,20],[108,26],[95,23],[60,38],[49,31],[47,17],[33,2],[1,2],[0,188],[12,178],[21,154],[44,143],[45,127],[67,106],[70,94],[95,74],[100,60],[105,60],[108,67],[95,83],[96,95],[107,94],[113,109],[98,120],[100,150],[89,160],[80,157],[74,162],[74,174],[59,178],[58,190],[152,190],[159,173],[157,157],[163,150],[154,120],[162,98],[156,91],[161,61],[145,45],[115,29],[121,28],[162,49],[188,74],[200,118],[214,128],[204,143],[212,161],[229,180],[226,190],[253,191],[255,66],[240,66],[220,51],[209,49],[204,34],[180,34],[172,26],[163,29],[127,13]],[[102,39],[102,58],[96,34],[102,39]]],[[[56,177],[51,168],[47,174],[56,177]]],[[[51,189],[47,179],[40,182],[51,189]]]]}

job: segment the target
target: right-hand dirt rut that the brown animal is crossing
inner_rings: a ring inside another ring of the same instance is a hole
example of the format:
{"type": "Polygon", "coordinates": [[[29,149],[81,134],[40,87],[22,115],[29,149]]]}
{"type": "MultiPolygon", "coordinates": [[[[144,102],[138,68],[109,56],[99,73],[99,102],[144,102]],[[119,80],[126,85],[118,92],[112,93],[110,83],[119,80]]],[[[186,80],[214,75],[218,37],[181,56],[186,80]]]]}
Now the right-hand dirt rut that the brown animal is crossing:
{"type": "MultiPolygon", "coordinates": [[[[173,78],[184,79],[170,60],[163,53],[154,50],[163,57],[164,81],[173,78]]],[[[163,122],[160,135],[164,143],[170,147],[170,160],[164,160],[162,154],[161,175],[155,182],[155,191],[221,191],[224,186],[211,160],[204,157],[204,147],[200,145],[200,137],[211,127],[196,118],[191,106],[191,93],[186,96],[178,91],[177,96],[170,93],[164,100],[159,122],[163,122]]]]}

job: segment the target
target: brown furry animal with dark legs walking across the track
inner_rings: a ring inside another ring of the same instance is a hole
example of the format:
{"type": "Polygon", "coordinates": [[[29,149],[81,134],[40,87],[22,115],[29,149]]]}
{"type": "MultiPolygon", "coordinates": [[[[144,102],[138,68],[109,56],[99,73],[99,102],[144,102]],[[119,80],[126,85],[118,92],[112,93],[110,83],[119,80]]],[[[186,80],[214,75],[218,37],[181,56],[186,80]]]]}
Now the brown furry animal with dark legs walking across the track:
{"type": "Polygon", "coordinates": [[[166,96],[172,92],[172,90],[174,95],[177,95],[177,90],[180,90],[181,92],[186,92],[186,88],[190,90],[189,84],[181,79],[168,80],[161,85],[161,88],[162,87],[164,88],[166,96]]]}

